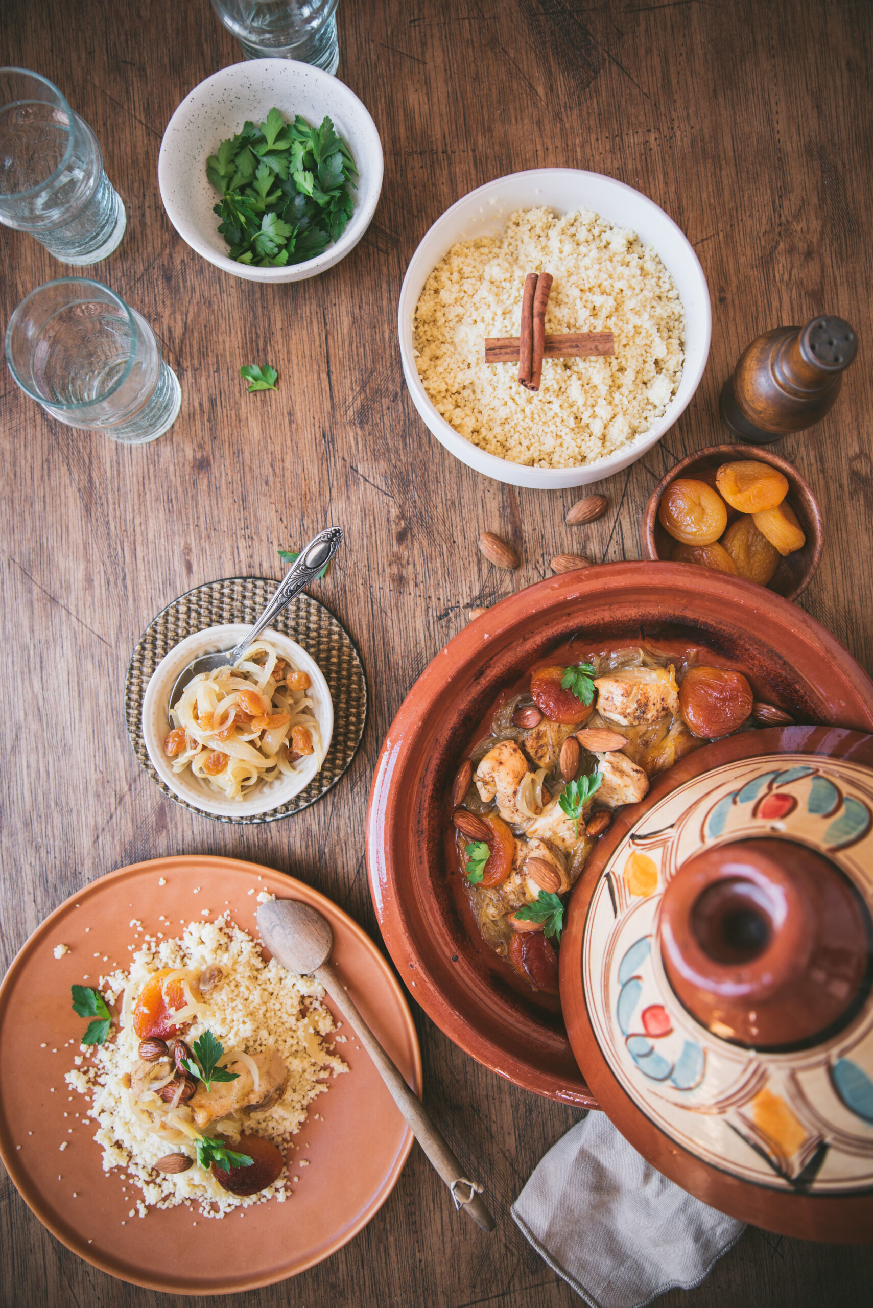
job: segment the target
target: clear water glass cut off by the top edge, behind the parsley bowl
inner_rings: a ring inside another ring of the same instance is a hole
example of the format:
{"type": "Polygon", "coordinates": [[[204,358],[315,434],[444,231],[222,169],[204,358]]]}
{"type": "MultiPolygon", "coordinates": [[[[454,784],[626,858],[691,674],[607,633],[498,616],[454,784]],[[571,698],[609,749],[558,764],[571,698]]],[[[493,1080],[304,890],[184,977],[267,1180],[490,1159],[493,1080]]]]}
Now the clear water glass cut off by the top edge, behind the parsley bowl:
{"type": "Polygon", "coordinates": [[[212,0],[246,59],[297,59],[327,73],[340,67],[338,0],[212,0]]]}

